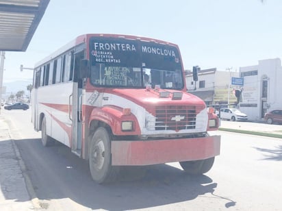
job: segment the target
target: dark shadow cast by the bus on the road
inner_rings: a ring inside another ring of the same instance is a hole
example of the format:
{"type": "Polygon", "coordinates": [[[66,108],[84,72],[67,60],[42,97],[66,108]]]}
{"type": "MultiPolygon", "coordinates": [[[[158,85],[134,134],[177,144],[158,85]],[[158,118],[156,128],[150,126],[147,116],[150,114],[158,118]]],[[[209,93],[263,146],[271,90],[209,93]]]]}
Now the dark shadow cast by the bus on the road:
{"type": "Polygon", "coordinates": [[[51,199],[67,198],[93,210],[136,210],[190,201],[208,193],[225,199],[226,207],[235,206],[234,201],[213,194],[217,183],[210,177],[190,176],[167,164],[123,167],[116,182],[100,185],[92,181],[88,162],[64,145],[42,147],[39,139],[18,140],[16,145],[45,206],[51,199]]]}

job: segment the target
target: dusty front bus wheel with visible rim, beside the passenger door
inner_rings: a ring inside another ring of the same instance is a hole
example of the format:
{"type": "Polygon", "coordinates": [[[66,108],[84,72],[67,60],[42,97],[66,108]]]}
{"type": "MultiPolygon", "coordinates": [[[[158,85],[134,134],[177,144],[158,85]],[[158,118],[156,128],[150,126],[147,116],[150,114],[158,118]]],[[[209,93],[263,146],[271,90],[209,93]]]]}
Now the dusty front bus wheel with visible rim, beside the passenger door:
{"type": "Polygon", "coordinates": [[[112,166],[111,140],[104,127],[99,127],[91,138],[89,167],[92,179],[98,184],[116,180],[118,166],[112,166]]]}

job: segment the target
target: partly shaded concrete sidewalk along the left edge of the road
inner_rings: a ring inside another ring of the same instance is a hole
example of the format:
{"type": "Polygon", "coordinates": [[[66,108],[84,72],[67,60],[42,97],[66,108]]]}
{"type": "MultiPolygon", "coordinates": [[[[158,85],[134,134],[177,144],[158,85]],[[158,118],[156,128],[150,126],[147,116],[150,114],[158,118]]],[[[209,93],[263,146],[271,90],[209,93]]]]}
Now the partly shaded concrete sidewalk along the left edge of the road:
{"type": "Polygon", "coordinates": [[[37,210],[29,197],[23,160],[12,140],[8,123],[0,115],[0,210],[37,210]]]}

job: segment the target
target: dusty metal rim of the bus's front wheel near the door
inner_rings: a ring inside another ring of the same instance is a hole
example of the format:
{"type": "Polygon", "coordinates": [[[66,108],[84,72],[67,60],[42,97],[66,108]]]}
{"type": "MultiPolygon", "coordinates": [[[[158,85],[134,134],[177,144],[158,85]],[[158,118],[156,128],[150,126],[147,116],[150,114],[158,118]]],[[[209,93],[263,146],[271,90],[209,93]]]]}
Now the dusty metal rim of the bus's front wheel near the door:
{"type": "Polygon", "coordinates": [[[105,146],[103,140],[99,140],[92,151],[92,164],[95,169],[102,169],[105,163],[105,146]]]}

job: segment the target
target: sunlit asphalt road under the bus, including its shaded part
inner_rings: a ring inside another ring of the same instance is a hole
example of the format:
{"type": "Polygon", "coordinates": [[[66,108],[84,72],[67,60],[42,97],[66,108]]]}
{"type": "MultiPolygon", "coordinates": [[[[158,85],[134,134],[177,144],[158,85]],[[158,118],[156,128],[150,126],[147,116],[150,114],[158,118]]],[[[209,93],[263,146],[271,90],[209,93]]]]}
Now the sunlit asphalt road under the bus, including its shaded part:
{"type": "Polygon", "coordinates": [[[4,111],[46,210],[281,210],[282,139],[212,132],[222,136],[211,171],[185,175],[178,163],[125,169],[118,182],[92,182],[88,163],[64,145],[42,147],[30,110],[4,111]]]}

